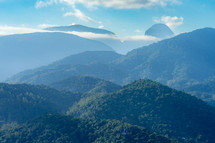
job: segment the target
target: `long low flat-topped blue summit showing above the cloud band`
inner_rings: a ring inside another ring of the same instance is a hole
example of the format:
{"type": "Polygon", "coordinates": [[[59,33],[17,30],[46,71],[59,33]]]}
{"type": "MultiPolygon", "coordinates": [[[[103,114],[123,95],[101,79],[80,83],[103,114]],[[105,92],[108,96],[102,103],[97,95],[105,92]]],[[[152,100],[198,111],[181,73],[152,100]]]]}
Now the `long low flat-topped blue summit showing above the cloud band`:
{"type": "Polygon", "coordinates": [[[115,35],[113,32],[105,30],[105,29],[100,29],[100,28],[92,28],[92,27],[87,27],[83,25],[71,25],[71,26],[57,26],[57,27],[49,27],[46,28],[45,30],[48,31],[61,31],[61,32],[91,32],[91,33],[96,33],[96,34],[109,34],[109,35],[115,35]]]}

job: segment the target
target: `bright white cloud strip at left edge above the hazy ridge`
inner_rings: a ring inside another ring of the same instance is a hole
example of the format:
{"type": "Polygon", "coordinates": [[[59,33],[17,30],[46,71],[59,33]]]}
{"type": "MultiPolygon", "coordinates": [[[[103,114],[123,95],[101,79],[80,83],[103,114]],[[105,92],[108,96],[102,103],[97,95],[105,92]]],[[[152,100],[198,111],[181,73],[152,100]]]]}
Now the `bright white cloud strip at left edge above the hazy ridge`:
{"type": "Polygon", "coordinates": [[[27,27],[13,27],[8,25],[0,26],[0,35],[23,34],[33,32],[44,32],[44,30],[27,28],[27,27]]]}

